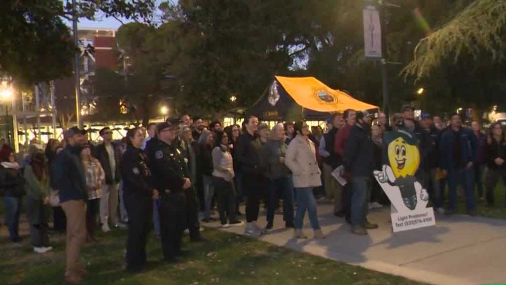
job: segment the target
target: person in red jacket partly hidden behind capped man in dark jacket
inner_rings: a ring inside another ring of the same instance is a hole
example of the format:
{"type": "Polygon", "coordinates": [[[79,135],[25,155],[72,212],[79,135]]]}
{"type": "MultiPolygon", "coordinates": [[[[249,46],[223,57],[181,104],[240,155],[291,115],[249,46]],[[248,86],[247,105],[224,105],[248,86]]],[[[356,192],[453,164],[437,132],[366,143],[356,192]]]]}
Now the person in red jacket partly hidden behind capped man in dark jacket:
{"type": "MultiPolygon", "coordinates": [[[[347,109],[343,113],[343,118],[346,121],[346,125],[336,133],[334,140],[334,153],[339,156],[342,161],[344,157],[344,144],[350,134],[351,128],[356,122],[356,112],[353,109],[347,109]]],[[[350,223],[350,206],[351,206],[351,184],[347,183],[344,186],[344,213],[346,222],[350,223]]]]}

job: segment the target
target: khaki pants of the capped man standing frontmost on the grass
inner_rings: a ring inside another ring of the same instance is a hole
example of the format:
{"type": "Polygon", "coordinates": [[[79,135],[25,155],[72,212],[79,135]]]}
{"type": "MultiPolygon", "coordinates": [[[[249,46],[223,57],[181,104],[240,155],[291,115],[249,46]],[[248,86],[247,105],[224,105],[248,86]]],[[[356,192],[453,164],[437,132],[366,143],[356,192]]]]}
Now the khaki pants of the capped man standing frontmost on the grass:
{"type": "Polygon", "coordinates": [[[83,200],[61,203],[67,217],[65,276],[78,274],[81,247],[86,242],[86,204],[83,200]]]}

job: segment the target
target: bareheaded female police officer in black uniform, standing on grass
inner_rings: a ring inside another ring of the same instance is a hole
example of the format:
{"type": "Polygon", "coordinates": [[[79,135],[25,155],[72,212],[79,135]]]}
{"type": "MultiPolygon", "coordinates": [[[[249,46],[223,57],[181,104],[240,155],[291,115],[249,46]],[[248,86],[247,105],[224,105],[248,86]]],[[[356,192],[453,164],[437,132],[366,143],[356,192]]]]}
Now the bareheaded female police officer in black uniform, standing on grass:
{"type": "Polygon", "coordinates": [[[138,272],[146,266],[146,241],[153,215],[152,199],[158,191],[151,186],[151,172],[146,155],[140,149],[142,133],[134,128],[127,132],[127,150],[120,163],[123,175],[123,199],[128,213],[127,270],[138,272]]]}

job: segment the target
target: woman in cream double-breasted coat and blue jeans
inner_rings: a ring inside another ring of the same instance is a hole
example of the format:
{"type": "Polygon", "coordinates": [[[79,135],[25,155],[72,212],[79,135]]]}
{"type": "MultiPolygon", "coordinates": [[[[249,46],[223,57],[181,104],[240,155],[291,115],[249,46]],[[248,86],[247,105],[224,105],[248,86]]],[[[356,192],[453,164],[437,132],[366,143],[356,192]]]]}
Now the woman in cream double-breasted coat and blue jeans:
{"type": "Polygon", "coordinates": [[[314,231],[314,238],[323,239],[318,223],[316,201],[313,188],[321,186],[321,171],[316,161],[316,149],[309,139],[309,127],[305,122],[295,123],[297,136],[290,142],[286,150],[285,164],[293,172],[295,191],[297,192],[297,213],[295,215],[295,238],[307,238],[302,232],[306,210],[314,231]]]}

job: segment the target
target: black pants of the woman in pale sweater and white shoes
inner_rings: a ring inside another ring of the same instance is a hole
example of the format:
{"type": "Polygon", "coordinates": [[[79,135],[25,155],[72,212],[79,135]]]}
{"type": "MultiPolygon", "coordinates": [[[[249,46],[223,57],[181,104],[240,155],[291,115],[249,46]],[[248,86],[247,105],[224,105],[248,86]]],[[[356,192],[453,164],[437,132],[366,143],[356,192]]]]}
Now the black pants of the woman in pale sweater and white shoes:
{"type": "Polygon", "coordinates": [[[218,197],[218,212],[222,225],[234,222],[236,220],[235,191],[232,182],[228,182],[222,177],[212,176],[212,185],[214,185],[214,193],[218,197]]]}

